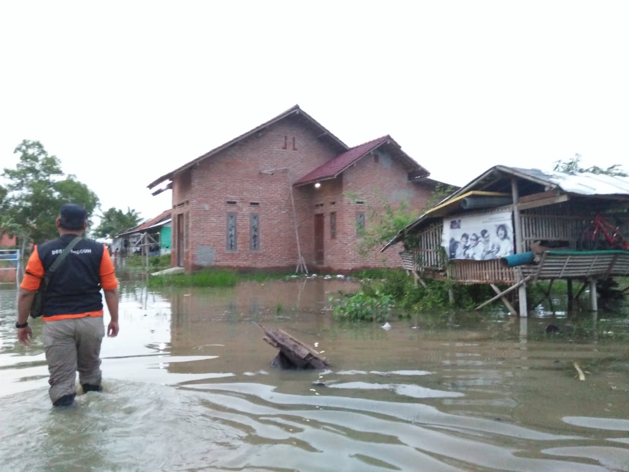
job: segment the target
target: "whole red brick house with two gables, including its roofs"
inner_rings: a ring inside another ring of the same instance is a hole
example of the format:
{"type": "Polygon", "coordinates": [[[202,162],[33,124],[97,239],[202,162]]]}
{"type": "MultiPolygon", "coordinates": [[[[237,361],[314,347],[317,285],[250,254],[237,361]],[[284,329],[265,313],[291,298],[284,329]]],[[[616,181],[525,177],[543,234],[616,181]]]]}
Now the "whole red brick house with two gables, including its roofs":
{"type": "Polygon", "coordinates": [[[350,271],[399,266],[360,257],[357,225],[383,198],[423,208],[429,174],[389,135],[350,148],[296,105],[148,188],[172,189],[172,266],[350,271]]]}

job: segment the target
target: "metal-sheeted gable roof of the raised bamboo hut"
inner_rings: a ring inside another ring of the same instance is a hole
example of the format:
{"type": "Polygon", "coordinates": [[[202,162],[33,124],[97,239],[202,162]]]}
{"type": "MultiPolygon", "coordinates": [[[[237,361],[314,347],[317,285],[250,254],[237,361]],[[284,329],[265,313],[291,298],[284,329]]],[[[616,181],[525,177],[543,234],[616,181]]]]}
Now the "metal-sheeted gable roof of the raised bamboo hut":
{"type": "Polygon", "coordinates": [[[460,206],[457,207],[451,204],[455,203],[455,201],[459,201],[459,199],[467,194],[488,193],[486,190],[502,190],[510,193],[510,180],[505,183],[504,188],[496,187],[499,181],[506,181],[507,177],[517,177],[531,184],[542,185],[547,190],[558,190],[565,194],[597,196],[599,198],[629,201],[629,177],[608,176],[605,174],[593,174],[591,172],[566,174],[565,172],[545,172],[540,171],[540,169],[494,166],[444,198],[414,222],[409,223],[409,225],[399,230],[398,234],[382,247],[381,252],[387,249],[387,247],[404,239],[406,233],[429,218],[445,216],[449,213],[454,213],[457,208],[460,209],[460,206]]]}

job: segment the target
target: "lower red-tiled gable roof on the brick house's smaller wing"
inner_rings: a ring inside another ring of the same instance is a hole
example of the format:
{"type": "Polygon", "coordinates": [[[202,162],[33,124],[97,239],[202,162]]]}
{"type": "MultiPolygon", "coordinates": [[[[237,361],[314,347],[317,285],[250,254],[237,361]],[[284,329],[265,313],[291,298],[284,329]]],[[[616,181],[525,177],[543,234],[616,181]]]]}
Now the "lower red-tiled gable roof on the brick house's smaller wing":
{"type": "Polygon", "coordinates": [[[391,136],[386,135],[381,138],[377,138],[366,143],[359,144],[352,149],[348,149],[343,154],[337,155],[334,159],[328,160],[325,164],[317,167],[315,170],[308,172],[305,176],[301,177],[294,186],[302,186],[326,179],[334,179],[343,173],[348,167],[355,164],[358,160],[362,159],[365,155],[373,152],[382,145],[391,145],[394,147],[395,154],[400,157],[406,166],[417,172],[416,177],[426,177],[430,175],[424,167],[420,166],[415,160],[411,159],[395,142],[391,136]]]}

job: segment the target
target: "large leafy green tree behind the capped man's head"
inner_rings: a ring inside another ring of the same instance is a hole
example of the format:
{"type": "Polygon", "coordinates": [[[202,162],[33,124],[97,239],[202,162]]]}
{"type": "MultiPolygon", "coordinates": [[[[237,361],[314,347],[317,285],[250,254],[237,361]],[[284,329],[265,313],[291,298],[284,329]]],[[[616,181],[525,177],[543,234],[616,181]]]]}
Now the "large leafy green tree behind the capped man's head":
{"type": "Polygon", "coordinates": [[[91,217],[98,197],[75,176],[65,175],[60,160],[42,143],[23,140],[14,154],[19,154],[16,168],[3,172],[8,183],[0,203],[0,228],[10,229],[23,242],[42,242],[57,237],[55,219],[64,203],[83,205],[91,217]]]}

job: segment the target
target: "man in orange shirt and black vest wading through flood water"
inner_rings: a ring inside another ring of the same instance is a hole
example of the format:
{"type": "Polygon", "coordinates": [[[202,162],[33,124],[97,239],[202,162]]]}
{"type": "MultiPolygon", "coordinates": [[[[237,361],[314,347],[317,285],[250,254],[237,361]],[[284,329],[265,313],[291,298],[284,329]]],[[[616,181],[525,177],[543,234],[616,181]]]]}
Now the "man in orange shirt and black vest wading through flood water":
{"type": "Polygon", "coordinates": [[[103,298],[111,321],[108,336],[118,335],[118,281],[109,252],[103,244],[81,239],[87,211],[66,203],[55,221],[58,239],[36,245],[26,264],[18,298],[18,340],[30,344],[33,333],[28,314],[45,273],[64,249],[74,244],[52,274],[43,293],[43,346],[50,373],[50,400],[55,407],[74,403],[75,378],[84,392],[101,391],[101,342],[104,337],[103,298]],[[78,238],[78,239],[77,239],[78,238]],[[77,239],[75,241],[75,239],[77,239]]]}

